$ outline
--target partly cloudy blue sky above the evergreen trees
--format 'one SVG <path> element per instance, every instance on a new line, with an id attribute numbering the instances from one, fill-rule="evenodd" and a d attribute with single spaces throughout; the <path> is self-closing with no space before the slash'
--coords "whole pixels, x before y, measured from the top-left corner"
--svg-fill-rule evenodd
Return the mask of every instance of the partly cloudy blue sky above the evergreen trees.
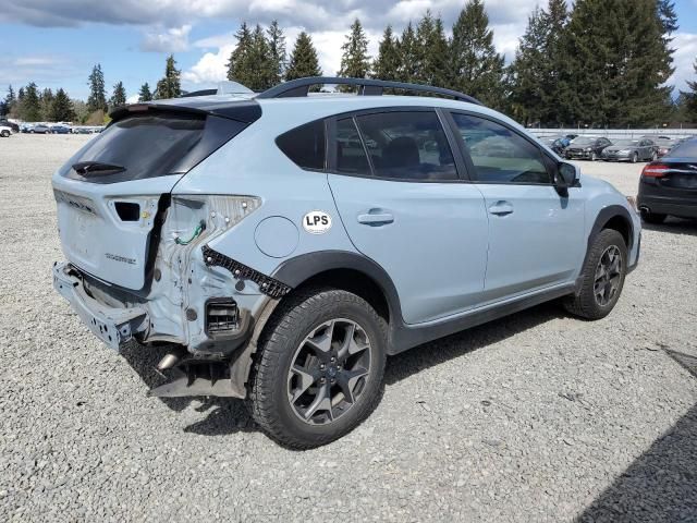
<path id="1" fill-rule="evenodd" d="M 697 59 L 697 0 L 674 0 L 680 29 L 672 42 L 675 74 L 669 83 L 685 88 Z M 95 63 L 105 72 L 108 95 L 124 83 L 130 101 L 144 82 L 154 88 L 172 52 L 187 90 L 224 80 L 240 23 L 268 25 L 278 20 L 289 51 L 307 31 L 326 75 L 334 75 L 348 26 L 358 17 L 377 54 L 382 31 L 401 32 L 427 9 L 452 26 L 465 0 L 0 0 L 0 96 L 36 82 L 40 88 L 63 87 L 85 99 Z M 485 0 L 494 45 L 510 61 L 527 17 L 546 0 Z"/>

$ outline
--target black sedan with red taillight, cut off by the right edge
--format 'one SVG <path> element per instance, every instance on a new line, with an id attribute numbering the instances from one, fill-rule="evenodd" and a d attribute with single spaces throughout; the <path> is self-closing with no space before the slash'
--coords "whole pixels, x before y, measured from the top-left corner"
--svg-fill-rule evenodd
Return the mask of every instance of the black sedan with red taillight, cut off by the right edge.
<path id="1" fill-rule="evenodd" d="M 697 218 L 697 138 L 644 168 L 637 207 L 648 223 L 662 223 L 669 215 Z"/>

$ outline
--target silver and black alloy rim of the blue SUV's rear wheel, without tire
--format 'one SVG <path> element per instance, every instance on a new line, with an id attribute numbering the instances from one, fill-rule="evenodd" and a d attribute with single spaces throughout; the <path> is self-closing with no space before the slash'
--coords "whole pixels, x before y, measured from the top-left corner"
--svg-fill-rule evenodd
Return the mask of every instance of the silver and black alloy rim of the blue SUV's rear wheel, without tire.
<path id="1" fill-rule="evenodd" d="M 309 425 L 325 425 L 348 412 L 366 390 L 371 354 L 370 340 L 356 321 L 337 318 L 313 328 L 288 373 L 295 415 Z"/>

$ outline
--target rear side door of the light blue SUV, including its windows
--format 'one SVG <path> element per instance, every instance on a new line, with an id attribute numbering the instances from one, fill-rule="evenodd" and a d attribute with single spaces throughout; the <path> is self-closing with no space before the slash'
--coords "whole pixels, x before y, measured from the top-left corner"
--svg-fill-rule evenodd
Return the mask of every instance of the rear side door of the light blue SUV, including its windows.
<path id="1" fill-rule="evenodd" d="M 329 184 L 341 220 L 355 247 L 392 278 L 404 320 L 477 305 L 487 259 L 484 198 L 458 178 L 437 112 L 358 113 L 330 130 Z"/>

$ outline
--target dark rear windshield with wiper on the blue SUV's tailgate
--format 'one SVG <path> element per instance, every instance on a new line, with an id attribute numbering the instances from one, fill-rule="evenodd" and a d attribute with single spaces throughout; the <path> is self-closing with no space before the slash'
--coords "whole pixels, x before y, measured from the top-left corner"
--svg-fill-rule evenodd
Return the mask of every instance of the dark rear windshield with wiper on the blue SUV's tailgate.
<path id="1" fill-rule="evenodd" d="M 89 142 L 62 174 L 94 183 L 182 174 L 246 125 L 204 113 L 135 113 L 113 122 Z"/>

